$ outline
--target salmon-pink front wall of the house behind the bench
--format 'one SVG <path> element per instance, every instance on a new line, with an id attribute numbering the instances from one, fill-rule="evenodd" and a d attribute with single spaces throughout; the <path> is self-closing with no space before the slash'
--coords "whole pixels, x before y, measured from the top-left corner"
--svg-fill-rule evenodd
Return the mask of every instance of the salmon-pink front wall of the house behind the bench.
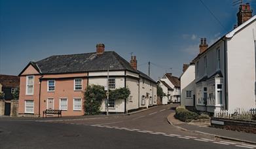
<path id="1" fill-rule="evenodd" d="M 54 99 L 54 109 L 60 109 L 60 98 L 67 98 L 67 110 L 62 112 L 62 116 L 79 116 L 84 114 L 84 109 L 82 106 L 81 111 L 73 110 L 73 98 L 81 97 L 82 103 L 83 91 L 87 86 L 87 79 L 85 78 L 87 73 L 75 73 L 75 74 L 45 74 L 41 82 L 41 101 L 40 101 L 40 112 L 39 112 L 39 90 L 40 82 L 39 78 L 42 76 L 35 73 L 33 67 L 27 67 L 26 71 L 20 76 L 20 99 L 18 113 L 24 114 L 25 112 L 25 100 L 34 101 L 34 115 L 43 114 L 43 110 L 47 108 L 47 99 Z M 30 72 L 30 73 L 29 73 Z M 34 75 L 34 88 L 33 95 L 26 95 L 26 76 L 30 74 Z M 61 78 L 60 78 L 61 77 Z M 82 91 L 74 91 L 74 78 L 82 78 Z M 47 91 L 47 80 L 55 80 L 55 91 Z"/>

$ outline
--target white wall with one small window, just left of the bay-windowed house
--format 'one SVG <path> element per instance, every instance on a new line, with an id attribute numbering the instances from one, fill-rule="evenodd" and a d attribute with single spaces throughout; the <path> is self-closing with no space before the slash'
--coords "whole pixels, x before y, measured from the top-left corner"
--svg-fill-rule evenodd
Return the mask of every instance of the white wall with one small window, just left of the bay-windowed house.
<path id="1" fill-rule="evenodd" d="M 181 105 L 193 106 L 193 95 L 195 91 L 195 69 L 194 65 L 189 65 L 187 70 L 181 76 Z M 191 98 L 187 98 L 187 91 L 191 91 Z"/>

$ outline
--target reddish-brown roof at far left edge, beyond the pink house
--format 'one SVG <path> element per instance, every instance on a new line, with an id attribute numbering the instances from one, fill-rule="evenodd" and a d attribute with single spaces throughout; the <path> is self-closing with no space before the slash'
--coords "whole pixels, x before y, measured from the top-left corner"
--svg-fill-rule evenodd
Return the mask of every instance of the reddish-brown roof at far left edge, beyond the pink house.
<path id="1" fill-rule="evenodd" d="M 5 88 L 17 88 L 20 86 L 20 77 L 0 74 L 0 84 Z"/>

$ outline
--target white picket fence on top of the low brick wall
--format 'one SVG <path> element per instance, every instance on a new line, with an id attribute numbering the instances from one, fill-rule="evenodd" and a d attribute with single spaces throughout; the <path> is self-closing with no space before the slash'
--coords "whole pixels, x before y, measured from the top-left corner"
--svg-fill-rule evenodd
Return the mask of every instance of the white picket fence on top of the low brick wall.
<path id="1" fill-rule="evenodd" d="M 215 118 L 229 118 L 236 120 L 252 120 L 256 114 L 256 108 L 244 109 L 237 108 L 236 110 L 215 110 Z"/>

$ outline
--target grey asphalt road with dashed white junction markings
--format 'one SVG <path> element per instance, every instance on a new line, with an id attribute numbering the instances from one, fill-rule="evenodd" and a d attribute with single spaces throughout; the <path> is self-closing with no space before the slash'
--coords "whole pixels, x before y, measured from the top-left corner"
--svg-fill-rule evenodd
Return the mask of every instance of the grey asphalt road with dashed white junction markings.
<path id="1" fill-rule="evenodd" d="M 170 108 L 63 120 L 0 118 L 0 148 L 254 148 L 181 131 L 166 120 Z"/>

